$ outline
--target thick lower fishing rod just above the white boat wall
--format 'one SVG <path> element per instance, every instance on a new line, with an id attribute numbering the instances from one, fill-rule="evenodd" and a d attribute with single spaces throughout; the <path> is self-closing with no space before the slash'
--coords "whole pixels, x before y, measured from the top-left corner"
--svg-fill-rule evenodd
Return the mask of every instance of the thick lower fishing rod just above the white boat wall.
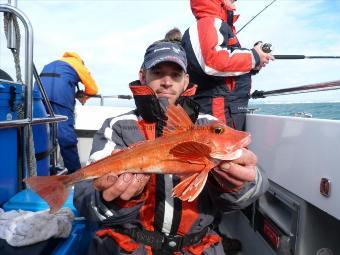
<path id="1" fill-rule="evenodd" d="M 336 90 L 336 89 L 340 89 L 340 80 L 316 83 L 316 84 L 311 84 L 311 85 L 304 85 L 304 86 L 299 86 L 299 87 L 277 89 L 277 90 L 268 90 L 268 91 L 255 90 L 250 95 L 250 98 L 257 99 L 257 98 L 266 98 L 268 96 L 281 96 L 281 95 L 319 92 L 319 91 Z"/>

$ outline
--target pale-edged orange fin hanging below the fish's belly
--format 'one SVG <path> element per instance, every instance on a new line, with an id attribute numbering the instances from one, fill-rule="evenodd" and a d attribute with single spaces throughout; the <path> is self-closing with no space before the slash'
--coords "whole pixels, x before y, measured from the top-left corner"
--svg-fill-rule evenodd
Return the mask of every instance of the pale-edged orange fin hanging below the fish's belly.
<path id="1" fill-rule="evenodd" d="M 172 195 L 183 201 L 191 202 L 201 193 L 208 179 L 209 170 L 195 173 L 174 187 Z"/>

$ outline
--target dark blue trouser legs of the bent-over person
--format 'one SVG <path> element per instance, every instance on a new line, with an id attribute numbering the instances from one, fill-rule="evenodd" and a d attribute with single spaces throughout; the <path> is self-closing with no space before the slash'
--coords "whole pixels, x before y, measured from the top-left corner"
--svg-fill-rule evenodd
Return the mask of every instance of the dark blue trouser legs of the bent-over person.
<path id="1" fill-rule="evenodd" d="M 67 121 L 58 123 L 58 143 L 64 166 L 69 170 L 69 173 L 73 173 L 81 167 L 77 148 L 78 140 L 74 130 L 74 112 L 53 102 L 51 105 L 55 114 L 68 117 Z"/>

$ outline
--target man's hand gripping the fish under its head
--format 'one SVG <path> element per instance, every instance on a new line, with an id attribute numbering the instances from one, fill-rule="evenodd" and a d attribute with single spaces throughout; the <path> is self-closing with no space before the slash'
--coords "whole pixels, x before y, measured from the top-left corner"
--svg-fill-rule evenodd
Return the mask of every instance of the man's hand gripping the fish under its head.
<path id="1" fill-rule="evenodd" d="M 242 149 L 240 158 L 233 161 L 222 161 L 212 174 L 224 190 L 240 189 L 246 182 L 256 178 L 256 155 L 247 149 Z"/>

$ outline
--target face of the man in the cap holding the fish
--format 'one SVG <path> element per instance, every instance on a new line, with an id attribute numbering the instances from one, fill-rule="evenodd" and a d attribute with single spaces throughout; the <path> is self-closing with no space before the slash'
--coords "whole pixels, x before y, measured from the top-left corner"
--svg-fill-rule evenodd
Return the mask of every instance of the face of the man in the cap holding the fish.
<path id="1" fill-rule="evenodd" d="M 169 104 L 174 104 L 189 84 L 189 75 L 172 62 L 162 62 L 151 69 L 141 70 L 139 80 L 149 86 L 156 96 L 168 98 Z"/>

